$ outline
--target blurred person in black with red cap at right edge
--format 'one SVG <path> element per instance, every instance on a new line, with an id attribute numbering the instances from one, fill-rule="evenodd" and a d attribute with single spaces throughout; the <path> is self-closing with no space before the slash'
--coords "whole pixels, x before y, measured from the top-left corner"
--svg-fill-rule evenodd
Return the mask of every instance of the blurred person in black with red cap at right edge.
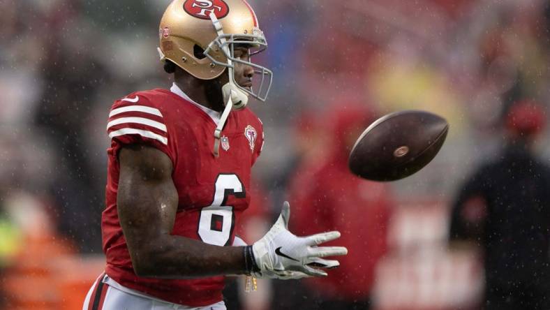
<path id="1" fill-rule="evenodd" d="M 550 167 L 532 152 L 546 115 L 533 101 L 505 114 L 502 154 L 461 186 L 450 237 L 480 246 L 485 309 L 550 309 Z"/>

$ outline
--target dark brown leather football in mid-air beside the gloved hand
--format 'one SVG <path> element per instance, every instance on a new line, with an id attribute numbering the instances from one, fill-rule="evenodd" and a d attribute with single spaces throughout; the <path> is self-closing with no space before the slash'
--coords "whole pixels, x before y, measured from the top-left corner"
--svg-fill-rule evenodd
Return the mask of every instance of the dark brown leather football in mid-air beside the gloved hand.
<path id="1" fill-rule="evenodd" d="M 449 123 L 429 112 L 408 110 L 377 119 L 353 146 L 351 172 L 373 181 L 403 179 L 424 168 L 445 142 Z"/>

